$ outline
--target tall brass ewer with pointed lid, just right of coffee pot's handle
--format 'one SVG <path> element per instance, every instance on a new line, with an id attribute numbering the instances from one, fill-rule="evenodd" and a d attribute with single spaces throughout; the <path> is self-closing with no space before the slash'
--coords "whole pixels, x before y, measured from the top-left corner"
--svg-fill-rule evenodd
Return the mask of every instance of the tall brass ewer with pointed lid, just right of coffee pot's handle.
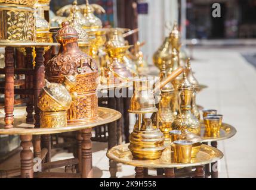
<path id="1" fill-rule="evenodd" d="M 193 95 L 193 85 L 187 80 L 186 72 L 183 73 L 183 79 L 178 85 L 178 105 L 179 112 L 177 117 L 172 123 L 172 129 L 184 131 L 187 129 L 189 132 L 200 134 L 200 122 L 198 118 L 191 112 L 191 99 Z"/>

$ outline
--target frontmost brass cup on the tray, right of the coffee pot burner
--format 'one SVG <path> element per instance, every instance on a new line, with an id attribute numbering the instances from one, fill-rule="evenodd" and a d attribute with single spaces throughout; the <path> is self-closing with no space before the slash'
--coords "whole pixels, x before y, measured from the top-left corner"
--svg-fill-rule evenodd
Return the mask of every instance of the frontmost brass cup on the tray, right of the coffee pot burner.
<path id="1" fill-rule="evenodd" d="M 174 160 L 178 163 L 190 163 L 192 141 L 174 141 Z"/>

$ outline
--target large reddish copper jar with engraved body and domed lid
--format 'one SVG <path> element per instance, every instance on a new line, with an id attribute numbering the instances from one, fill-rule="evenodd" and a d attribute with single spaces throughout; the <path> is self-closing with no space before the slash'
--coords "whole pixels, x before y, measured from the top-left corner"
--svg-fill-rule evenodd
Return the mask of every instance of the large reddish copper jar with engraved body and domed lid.
<path id="1" fill-rule="evenodd" d="M 69 22 L 63 22 L 62 26 L 56 35 L 60 50 L 45 65 L 45 77 L 51 82 L 62 83 L 65 75 L 77 74 L 76 84 L 70 93 L 76 91 L 78 96 L 67 110 L 67 122 L 81 124 L 95 121 L 98 119 L 97 64 L 79 49 L 78 33 Z"/>

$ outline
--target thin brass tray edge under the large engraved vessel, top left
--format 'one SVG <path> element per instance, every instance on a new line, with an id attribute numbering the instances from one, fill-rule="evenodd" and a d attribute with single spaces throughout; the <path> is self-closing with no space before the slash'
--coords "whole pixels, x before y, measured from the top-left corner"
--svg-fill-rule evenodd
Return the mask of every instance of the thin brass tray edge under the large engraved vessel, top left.
<path id="1" fill-rule="evenodd" d="M 43 43 L 43 42 L 0 42 L 0 47 L 48 47 L 59 46 L 59 43 Z"/>

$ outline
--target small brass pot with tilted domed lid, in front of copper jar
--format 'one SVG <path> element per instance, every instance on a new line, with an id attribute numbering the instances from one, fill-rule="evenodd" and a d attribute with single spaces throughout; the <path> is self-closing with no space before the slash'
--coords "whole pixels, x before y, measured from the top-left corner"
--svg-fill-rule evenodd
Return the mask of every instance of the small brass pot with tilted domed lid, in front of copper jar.
<path id="1" fill-rule="evenodd" d="M 76 93 L 69 90 L 75 85 L 75 77 L 64 77 L 62 84 L 50 83 L 45 80 L 45 87 L 39 96 L 41 128 L 59 128 L 67 126 L 67 109 L 72 105 Z"/>

